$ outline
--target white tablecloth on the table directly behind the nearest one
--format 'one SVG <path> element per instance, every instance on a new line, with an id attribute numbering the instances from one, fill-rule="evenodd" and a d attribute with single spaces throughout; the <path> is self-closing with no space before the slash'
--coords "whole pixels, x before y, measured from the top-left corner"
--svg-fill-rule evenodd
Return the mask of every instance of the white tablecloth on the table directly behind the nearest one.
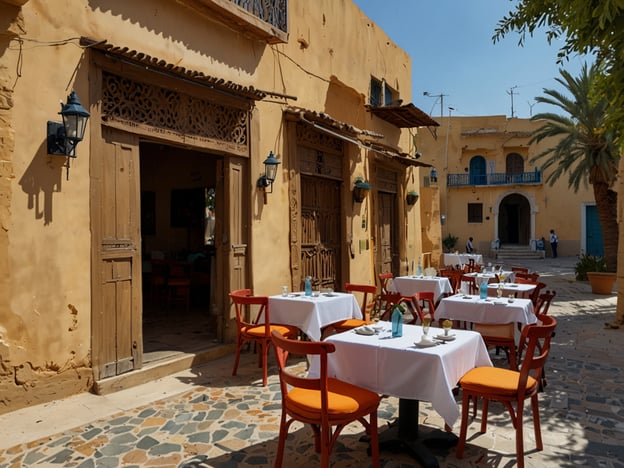
<path id="1" fill-rule="evenodd" d="M 466 298 L 466 299 L 465 299 Z M 445 297 L 438 304 L 436 319 L 464 320 L 473 323 L 536 323 L 533 303 L 529 299 L 479 299 L 479 296 Z"/>

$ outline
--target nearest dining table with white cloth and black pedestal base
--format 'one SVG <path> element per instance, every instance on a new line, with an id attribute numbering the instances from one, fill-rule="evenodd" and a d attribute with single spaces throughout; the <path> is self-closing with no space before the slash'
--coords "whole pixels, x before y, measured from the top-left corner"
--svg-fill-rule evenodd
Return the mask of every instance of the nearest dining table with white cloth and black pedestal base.
<path id="1" fill-rule="evenodd" d="M 443 330 L 431 327 L 432 341 L 422 346 L 420 325 L 404 325 L 401 337 L 392 337 L 390 322 L 380 321 L 375 334 L 364 335 L 358 329 L 338 333 L 325 341 L 335 352 L 328 355 L 331 377 L 367 388 L 376 393 L 399 398 L 399 416 L 395 424 L 379 436 L 380 449 L 410 452 L 422 466 L 437 467 L 429 445 L 449 448 L 457 443 L 452 432 L 435 429 L 419 434 L 419 402 L 431 402 L 433 409 L 452 427 L 459 417 L 453 389 L 469 370 L 492 366 L 481 336 L 469 330 L 451 330 L 446 341 L 435 338 Z M 309 372 L 318 374 L 318 361 Z"/>

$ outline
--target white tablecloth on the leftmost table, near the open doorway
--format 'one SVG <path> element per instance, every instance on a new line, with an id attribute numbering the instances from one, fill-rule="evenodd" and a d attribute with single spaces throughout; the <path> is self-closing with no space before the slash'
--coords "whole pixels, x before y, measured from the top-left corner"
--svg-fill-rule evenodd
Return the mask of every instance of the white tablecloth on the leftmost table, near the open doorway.
<path id="1" fill-rule="evenodd" d="M 295 294 L 297 294 L 295 296 Z M 350 318 L 362 318 L 362 311 L 353 294 L 333 293 L 318 297 L 294 293 L 288 296 L 270 296 L 271 323 L 294 325 L 313 341 L 321 339 L 321 329 Z"/>

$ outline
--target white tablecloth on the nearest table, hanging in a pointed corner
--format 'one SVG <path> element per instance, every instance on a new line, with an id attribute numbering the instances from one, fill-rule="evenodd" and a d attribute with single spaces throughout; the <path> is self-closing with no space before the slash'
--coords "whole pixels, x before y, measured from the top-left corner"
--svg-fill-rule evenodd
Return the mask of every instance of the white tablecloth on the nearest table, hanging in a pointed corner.
<path id="1" fill-rule="evenodd" d="M 422 337 L 421 326 L 404 325 L 403 336 L 392 338 L 390 322 L 380 323 L 385 331 L 373 336 L 351 330 L 327 338 L 336 346 L 328 355 L 329 375 L 384 395 L 430 401 L 452 426 L 459 417 L 453 388 L 470 369 L 492 365 L 481 335 L 453 330 L 454 341 L 418 348 L 414 342 Z M 431 336 L 442 333 L 441 328 L 429 330 Z M 318 361 L 310 368 L 314 372 Z"/>

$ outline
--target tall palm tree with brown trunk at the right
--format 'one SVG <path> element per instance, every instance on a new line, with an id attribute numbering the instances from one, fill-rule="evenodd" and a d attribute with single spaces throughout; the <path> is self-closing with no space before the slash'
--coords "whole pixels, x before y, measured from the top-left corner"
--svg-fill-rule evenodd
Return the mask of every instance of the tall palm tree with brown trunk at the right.
<path id="1" fill-rule="evenodd" d="M 573 77 L 559 70 L 556 81 L 570 93 L 545 89 L 545 96 L 537 102 L 558 107 L 566 115 L 540 113 L 532 120 L 544 124 L 533 132 L 531 143 L 545 138 L 558 138 L 556 146 L 538 154 L 532 161 L 543 160 L 542 170 L 552 169 L 546 178 L 551 186 L 564 174 L 568 175 L 568 187 L 576 193 L 581 183 L 592 185 L 596 211 L 602 228 L 604 257 L 607 271 L 617 270 L 618 224 L 617 193 L 612 190 L 617 178 L 620 152 L 615 144 L 617 131 L 605 125 L 608 102 L 597 92 L 596 81 L 600 70 L 585 64 L 580 76 Z"/>

